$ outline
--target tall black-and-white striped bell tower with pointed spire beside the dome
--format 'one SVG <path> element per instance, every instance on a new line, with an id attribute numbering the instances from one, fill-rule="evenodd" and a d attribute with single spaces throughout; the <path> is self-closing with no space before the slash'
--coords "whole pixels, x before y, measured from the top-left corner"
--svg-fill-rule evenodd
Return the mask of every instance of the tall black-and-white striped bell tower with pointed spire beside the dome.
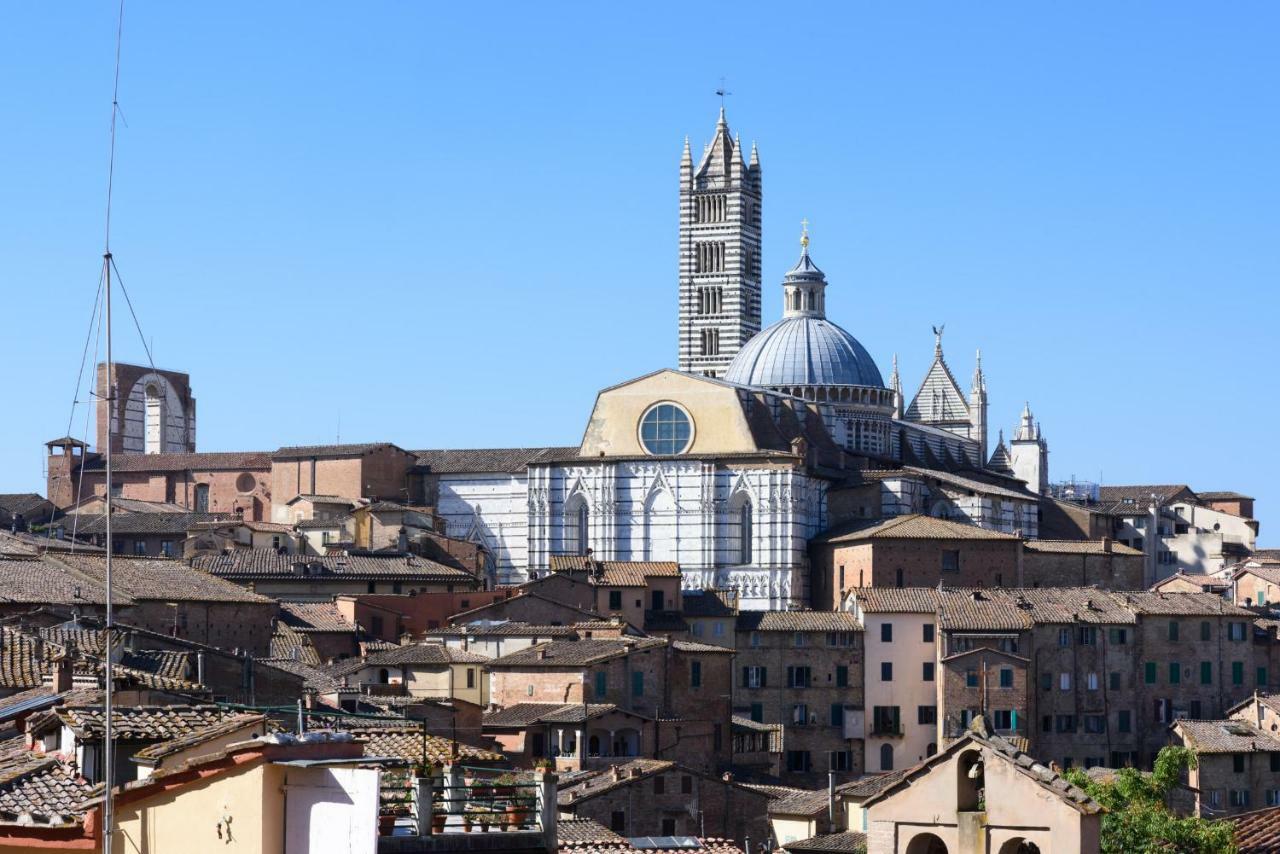
<path id="1" fill-rule="evenodd" d="M 721 108 L 698 166 L 687 138 L 680 160 L 680 370 L 723 376 L 759 330 L 760 157 L 744 163 Z"/>

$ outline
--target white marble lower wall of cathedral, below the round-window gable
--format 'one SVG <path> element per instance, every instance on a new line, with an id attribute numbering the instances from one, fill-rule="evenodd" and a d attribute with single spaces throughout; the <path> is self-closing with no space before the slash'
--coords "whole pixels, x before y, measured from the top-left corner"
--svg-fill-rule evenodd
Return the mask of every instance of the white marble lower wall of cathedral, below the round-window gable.
<path id="1" fill-rule="evenodd" d="M 805 595 L 808 542 L 826 528 L 827 483 L 791 469 L 727 469 L 700 460 L 531 466 L 527 476 L 445 475 L 438 512 L 451 536 L 483 542 L 500 581 L 576 549 L 579 507 L 596 558 L 678 561 L 689 588 L 732 586 L 744 608 Z M 751 506 L 750 561 L 741 557 Z"/>

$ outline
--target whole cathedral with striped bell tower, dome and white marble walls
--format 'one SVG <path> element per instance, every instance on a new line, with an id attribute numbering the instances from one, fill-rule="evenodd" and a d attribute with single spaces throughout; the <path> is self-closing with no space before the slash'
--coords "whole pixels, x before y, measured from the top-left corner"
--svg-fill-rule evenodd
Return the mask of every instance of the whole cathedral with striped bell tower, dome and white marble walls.
<path id="1" fill-rule="evenodd" d="M 966 394 L 936 328 L 906 401 L 896 357 L 886 384 L 827 318 L 808 233 L 773 296 L 782 316 L 762 329 L 762 201 L 759 152 L 744 156 L 722 109 L 700 160 L 686 140 L 680 163 L 678 370 L 602 391 L 579 446 L 529 449 L 503 471 L 419 452 L 425 499 L 451 534 L 492 549 L 502 580 L 564 553 L 678 561 L 686 586 L 794 607 L 808 543 L 847 521 L 832 511 L 846 493 L 863 497 L 863 517 L 924 512 L 1036 536 L 1047 444 L 1028 410 L 988 455 L 980 355 Z"/>

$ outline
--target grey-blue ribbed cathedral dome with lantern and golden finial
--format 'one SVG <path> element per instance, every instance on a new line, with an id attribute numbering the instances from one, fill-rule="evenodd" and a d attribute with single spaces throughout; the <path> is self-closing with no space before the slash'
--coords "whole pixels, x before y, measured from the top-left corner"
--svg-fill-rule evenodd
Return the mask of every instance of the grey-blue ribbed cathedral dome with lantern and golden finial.
<path id="1" fill-rule="evenodd" d="M 884 380 L 867 348 L 827 320 L 827 277 L 809 257 L 808 233 L 800 245 L 800 261 L 782 280 L 782 320 L 746 342 L 730 362 L 724 379 L 765 388 L 883 388 Z"/>

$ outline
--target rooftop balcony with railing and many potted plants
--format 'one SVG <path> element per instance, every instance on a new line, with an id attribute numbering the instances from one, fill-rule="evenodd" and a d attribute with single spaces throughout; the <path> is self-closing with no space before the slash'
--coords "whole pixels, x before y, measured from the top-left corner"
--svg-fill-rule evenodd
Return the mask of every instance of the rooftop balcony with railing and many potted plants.
<path id="1" fill-rule="evenodd" d="M 379 854 L 557 849 L 556 775 L 444 766 L 380 819 Z M 424 808 L 428 805 L 426 808 Z"/>

